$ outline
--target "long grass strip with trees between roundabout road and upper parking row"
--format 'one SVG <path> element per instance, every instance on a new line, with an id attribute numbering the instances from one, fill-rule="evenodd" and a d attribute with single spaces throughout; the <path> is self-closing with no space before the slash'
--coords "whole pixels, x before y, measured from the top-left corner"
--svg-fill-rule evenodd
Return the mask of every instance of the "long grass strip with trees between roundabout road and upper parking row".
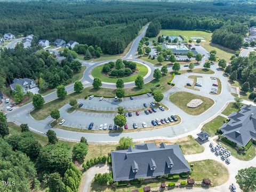
<path id="1" fill-rule="evenodd" d="M 172 73 L 167 73 L 159 80 L 153 79 L 150 82 L 146 83 L 145 85 L 143 85 L 142 89 L 139 89 L 137 87 L 127 88 L 125 89 L 125 95 L 129 96 L 151 92 L 152 87 L 155 87 L 156 90 L 161 90 L 162 92 L 165 92 L 173 87 L 172 85 L 167 84 L 168 81 L 172 80 L 172 77 Z M 35 109 L 31 111 L 30 114 L 37 120 L 45 119 L 50 115 L 52 109 L 59 109 L 67 104 L 70 99 L 81 99 L 84 98 L 85 95 L 89 94 L 103 97 L 115 97 L 115 89 L 100 88 L 98 90 L 95 90 L 93 89 L 93 87 L 86 87 L 81 93 L 71 93 L 68 94 L 65 99 L 55 99 L 53 101 L 47 102 L 44 104 L 43 108 Z"/>

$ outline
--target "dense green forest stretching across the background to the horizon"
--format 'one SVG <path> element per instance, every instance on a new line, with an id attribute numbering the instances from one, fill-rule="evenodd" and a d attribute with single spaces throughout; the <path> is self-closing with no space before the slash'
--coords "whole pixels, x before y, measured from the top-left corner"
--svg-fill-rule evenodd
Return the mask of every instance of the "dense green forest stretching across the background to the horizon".
<path id="1" fill-rule="evenodd" d="M 255 6 L 243 4 L 38 1 L 0 2 L 0 6 L 5 7 L 0 10 L 0 34 L 34 34 L 36 39 L 51 42 L 56 38 L 74 40 L 98 45 L 109 54 L 123 53 L 141 27 L 151 20 L 154 25 L 154 19 L 163 29 L 209 31 L 222 27 L 227 20 L 256 22 Z"/>

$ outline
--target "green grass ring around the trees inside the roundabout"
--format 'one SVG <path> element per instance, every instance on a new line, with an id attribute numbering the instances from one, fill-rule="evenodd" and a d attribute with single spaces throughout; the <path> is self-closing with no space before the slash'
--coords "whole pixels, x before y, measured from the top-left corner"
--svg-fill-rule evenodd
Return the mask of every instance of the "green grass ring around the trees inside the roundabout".
<path id="1" fill-rule="evenodd" d="M 132 82 L 135 81 L 135 79 L 140 75 L 140 76 L 145 76 L 148 73 L 148 68 L 145 65 L 142 65 L 138 62 L 136 62 L 137 64 L 137 68 L 139 69 L 138 73 L 131 75 L 129 77 L 122 77 L 122 79 L 124 80 L 124 82 Z M 108 82 L 108 83 L 116 83 L 117 78 L 112 78 L 112 77 L 108 77 L 105 74 L 102 74 L 102 68 L 104 65 L 100 65 L 98 67 L 95 67 L 92 70 L 92 76 L 94 78 L 99 78 L 102 82 Z"/>

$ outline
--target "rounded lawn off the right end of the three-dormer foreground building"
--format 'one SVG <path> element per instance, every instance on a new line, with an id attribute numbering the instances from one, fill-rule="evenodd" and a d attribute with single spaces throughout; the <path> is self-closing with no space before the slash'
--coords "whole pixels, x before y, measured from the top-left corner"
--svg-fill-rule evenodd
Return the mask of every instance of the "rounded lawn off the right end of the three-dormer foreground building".
<path id="1" fill-rule="evenodd" d="M 227 168 L 217 161 L 207 159 L 189 163 L 194 164 L 190 178 L 195 179 L 195 181 L 202 181 L 204 178 L 209 178 L 212 186 L 219 186 L 228 180 Z"/>

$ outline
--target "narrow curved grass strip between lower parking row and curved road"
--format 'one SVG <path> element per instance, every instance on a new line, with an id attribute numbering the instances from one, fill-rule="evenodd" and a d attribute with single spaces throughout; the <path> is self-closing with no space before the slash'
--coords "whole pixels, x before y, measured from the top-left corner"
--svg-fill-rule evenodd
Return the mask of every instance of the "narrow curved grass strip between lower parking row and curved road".
<path id="1" fill-rule="evenodd" d="M 141 132 L 141 131 L 151 131 L 151 130 L 156 130 L 156 129 L 161 129 L 164 127 L 170 127 L 174 125 L 178 125 L 181 123 L 181 118 L 178 115 L 175 115 L 175 117 L 178 118 L 177 122 L 172 122 L 172 123 L 166 123 L 158 126 L 150 126 L 146 128 L 138 128 L 138 129 L 123 129 L 122 127 L 119 127 L 118 130 L 88 130 L 86 129 L 81 129 L 81 128 L 76 128 L 76 127 L 70 127 L 70 126 L 65 126 L 65 125 L 56 125 L 54 128 L 57 129 L 62 129 L 66 131 L 74 131 L 74 132 L 82 132 L 82 133 L 106 133 L 106 134 L 111 134 L 111 133 L 131 133 L 131 132 Z"/>

